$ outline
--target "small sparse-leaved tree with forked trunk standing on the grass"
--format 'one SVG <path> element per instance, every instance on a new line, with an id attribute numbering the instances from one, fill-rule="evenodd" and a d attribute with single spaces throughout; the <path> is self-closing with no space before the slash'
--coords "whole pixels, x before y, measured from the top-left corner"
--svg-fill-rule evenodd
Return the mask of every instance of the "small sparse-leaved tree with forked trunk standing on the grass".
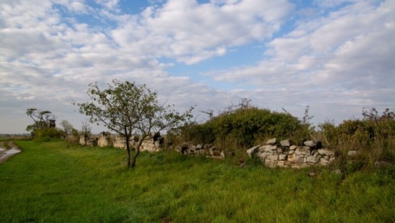
<path id="1" fill-rule="evenodd" d="M 90 116 L 90 122 L 103 124 L 124 137 L 128 167 L 136 165 L 142 142 L 153 138 L 153 133 L 178 126 L 192 117 L 192 108 L 183 114 L 171 110 L 171 106 L 158 102 L 156 92 L 134 82 L 113 80 L 105 90 L 91 83 L 87 94 L 92 101 L 75 103 L 79 112 Z M 133 133 L 141 137 L 131 162 L 130 137 Z"/>

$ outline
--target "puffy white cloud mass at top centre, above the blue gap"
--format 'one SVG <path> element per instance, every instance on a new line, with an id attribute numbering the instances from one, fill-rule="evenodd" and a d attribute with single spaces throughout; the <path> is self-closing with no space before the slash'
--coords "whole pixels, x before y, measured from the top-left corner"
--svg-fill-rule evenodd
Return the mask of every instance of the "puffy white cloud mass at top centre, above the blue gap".
<path id="1" fill-rule="evenodd" d="M 126 51 L 195 64 L 223 55 L 228 47 L 271 37 L 293 10 L 284 0 L 217 3 L 169 0 L 146 8 L 112 36 Z"/>

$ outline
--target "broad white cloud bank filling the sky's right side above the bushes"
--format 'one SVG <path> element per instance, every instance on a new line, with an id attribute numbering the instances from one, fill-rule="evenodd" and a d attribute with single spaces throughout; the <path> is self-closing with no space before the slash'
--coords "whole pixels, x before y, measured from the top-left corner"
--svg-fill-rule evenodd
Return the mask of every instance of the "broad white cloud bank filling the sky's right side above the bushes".
<path id="1" fill-rule="evenodd" d="M 217 81 L 247 82 L 252 87 L 245 94 L 263 106 L 290 105 L 290 111 L 297 112 L 310 104 L 319 110 L 319 121 L 349 118 L 362 107 L 393 108 L 394 11 L 391 0 L 349 4 L 297 23 L 288 35 L 267 44 L 265 54 L 270 57 L 256 66 L 207 75 Z M 336 105 L 344 109 L 334 111 Z"/>

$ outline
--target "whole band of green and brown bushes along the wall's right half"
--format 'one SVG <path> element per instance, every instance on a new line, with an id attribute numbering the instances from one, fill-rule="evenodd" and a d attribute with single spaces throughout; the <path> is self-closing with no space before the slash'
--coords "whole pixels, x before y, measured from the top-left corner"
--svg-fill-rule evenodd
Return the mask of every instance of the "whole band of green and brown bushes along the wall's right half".
<path id="1" fill-rule="evenodd" d="M 386 109 L 381 114 L 372 108 L 362 111 L 362 118 L 344 120 L 336 125 L 326 121 L 317 128 L 309 123 L 309 107 L 302 118 L 289 112 L 276 112 L 253 106 L 238 106 L 211 116 L 204 123 L 191 123 L 169 134 L 170 140 L 180 144 L 214 144 L 217 149 L 233 151 L 234 161 L 247 159 L 246 149 L 262 145 L 266 140 L 299 139 L 317 140 L 325 148 L 335 149 L 340 154 L 334 169 L 355 171 L 373 168 L 377 160 L 395 163 L 395 114 Z M 356 150 L 357 157 L 347 156 Z"/>

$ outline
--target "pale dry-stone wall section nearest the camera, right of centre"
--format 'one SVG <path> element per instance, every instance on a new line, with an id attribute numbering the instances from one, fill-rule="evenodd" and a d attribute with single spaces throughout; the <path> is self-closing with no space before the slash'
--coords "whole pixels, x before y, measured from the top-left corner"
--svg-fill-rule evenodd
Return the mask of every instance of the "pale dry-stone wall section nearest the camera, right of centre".
<path id="1" fill-rule="evenodd" d="M 265 145 L 247 150 L 250 157 L 257 155 L 269 167 L 303 168 L 310 165 L 328 165 L 337 153 L 333 149 L 322 148 L 319 141 L 299 141 L 293 145 L 290 140 L 277 142 L 276 138 Z"/>

